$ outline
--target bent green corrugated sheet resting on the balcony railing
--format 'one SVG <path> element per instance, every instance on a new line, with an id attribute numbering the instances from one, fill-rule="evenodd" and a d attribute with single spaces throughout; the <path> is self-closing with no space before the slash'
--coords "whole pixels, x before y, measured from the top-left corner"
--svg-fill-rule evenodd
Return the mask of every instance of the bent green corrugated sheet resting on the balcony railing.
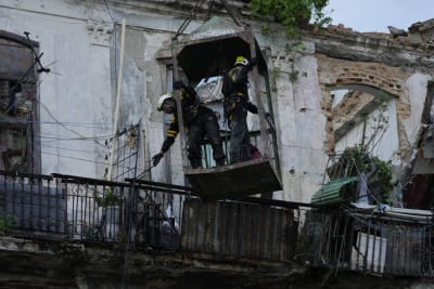
<path id="1" fill-rule="evenodd" d="M 344 196 L 341 194 L 342 188 L 347 184 L 357 182 L 357 176 L 331 180 L 329 183 L 323 184 L 321 188 L 314 194 L 310 202 L 316 205 L 331 205 L 342 202 L 345 200 Z"/>

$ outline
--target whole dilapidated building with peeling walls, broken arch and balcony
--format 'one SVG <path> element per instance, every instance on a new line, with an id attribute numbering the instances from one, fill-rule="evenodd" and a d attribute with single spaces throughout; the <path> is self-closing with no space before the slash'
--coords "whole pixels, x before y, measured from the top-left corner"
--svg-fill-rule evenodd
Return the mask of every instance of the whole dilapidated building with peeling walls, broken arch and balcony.
<path id="1" fill-rule="evenodd" d="M 294 40 L 235 0 L 3 0 L 0 288 L 425 284 L 434 21 L 390 30 Z M 260 160 L 214 168 L 204 142 L 191 171 L 181 130 L 153 167 L 178 79 L 219 113 L 227 149 L 219 81 L 238 49 L 258 60 Z"/>

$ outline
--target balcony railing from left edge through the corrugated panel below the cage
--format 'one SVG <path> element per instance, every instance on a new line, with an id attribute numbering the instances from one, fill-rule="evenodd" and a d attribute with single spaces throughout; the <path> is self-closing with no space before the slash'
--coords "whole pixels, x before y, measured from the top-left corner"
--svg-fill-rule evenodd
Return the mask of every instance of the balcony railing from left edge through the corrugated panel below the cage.
<path id="1" fill-rule="evenodd" d="M 12 220 L 11 235 L 291 260 L 298 227 L 292 207 L 255 199 L 203 202 L 171 184 L 0 171 L 0 219 Z"/>

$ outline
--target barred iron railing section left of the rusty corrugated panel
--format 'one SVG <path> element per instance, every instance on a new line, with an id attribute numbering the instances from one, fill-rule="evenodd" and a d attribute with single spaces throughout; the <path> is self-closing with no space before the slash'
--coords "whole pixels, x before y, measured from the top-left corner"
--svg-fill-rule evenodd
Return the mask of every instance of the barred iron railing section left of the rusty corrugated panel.
<path id="1" fill-rule="evenodd" d="M 129 181 L 0 171 L 0 218 L 20 235 L 178 248 L 188 188 Z"/>

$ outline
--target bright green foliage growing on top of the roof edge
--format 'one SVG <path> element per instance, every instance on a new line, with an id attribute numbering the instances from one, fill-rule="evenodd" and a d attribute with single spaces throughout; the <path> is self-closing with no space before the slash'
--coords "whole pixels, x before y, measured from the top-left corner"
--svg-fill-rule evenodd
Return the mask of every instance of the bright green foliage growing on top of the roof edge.
<path id="1" fill-rule="evenodd" d="M 266 15 L 286 28 L 288 36 L 295 36 L 298 28 L 306 28 L 309 23 L 323 27 L 331 23 L 323 10 L 329 0 L 252 0 L 253 15 Z"/>

